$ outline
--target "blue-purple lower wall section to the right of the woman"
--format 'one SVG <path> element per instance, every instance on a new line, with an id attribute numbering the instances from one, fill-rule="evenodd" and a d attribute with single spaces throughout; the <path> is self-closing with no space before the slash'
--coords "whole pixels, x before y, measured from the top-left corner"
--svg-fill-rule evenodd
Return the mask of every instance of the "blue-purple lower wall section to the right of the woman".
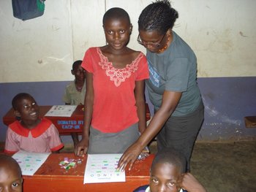
<path id="1" fill-rule="evenodd" d="M 197 139 L 255 139 L 256 128 L 246 128 L 244 117 L 256 116 L 256 77 L 199 78 L 205 120 Z"/>

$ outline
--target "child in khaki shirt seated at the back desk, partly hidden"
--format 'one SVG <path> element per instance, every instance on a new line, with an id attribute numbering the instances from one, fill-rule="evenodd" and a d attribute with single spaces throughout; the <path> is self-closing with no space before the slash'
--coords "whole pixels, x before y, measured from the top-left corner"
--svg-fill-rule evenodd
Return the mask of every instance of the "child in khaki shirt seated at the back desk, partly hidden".
<path id="1" fill-rule="evenodd" d="M 84 104 L 86 96 L 86 71 L 81 67 L 82 61 L 75 61 L 72 65 L 71 73 L 75 75 L 75 80 L 67 85 L 63 96 L 65 104 Z M 78 143 L 78 134 L 71 133 L 74 146 Z"/>

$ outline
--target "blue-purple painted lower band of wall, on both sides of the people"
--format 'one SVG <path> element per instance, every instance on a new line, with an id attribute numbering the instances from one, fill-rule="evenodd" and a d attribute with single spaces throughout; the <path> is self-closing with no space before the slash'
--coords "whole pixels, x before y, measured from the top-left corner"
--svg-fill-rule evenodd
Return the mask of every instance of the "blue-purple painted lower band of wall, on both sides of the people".
<path id="1" fill-rule="evenodd" d="M 65 86 L 61 82 L 0 83 L 0 141 L 5 139 L 7 126 L 2 123 L 10 110 L 13 96 L 27 92 L 39 105 L 64 104 L 61 101 Z M 256 77 L 198 78 L 198 85 L 205 104 L 205 121 L 197 140 L 255 139 L 256 128 L 246 128 L 245 116 L 256 115 Z M 147 93 L 146 93 L 147 94 Z M 146 95 L 148 101 L 148 96 Z M 149 103 L 151 114 L 153 107 Z"/>

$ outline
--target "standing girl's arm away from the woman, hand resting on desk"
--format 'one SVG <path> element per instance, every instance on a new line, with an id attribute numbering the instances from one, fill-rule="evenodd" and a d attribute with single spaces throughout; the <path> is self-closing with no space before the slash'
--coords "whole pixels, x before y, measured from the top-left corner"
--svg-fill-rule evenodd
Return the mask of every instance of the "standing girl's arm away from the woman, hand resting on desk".
<path id="1" fill-rule="evenodd" d="M 78 145 L 75 146 L 75 155 L 81 156 L 87 153 L 89 147 L 89 129 L 94 104 L 93 74 L 86 72 L 86 97 L 84 100 L 83 135 Z"/>

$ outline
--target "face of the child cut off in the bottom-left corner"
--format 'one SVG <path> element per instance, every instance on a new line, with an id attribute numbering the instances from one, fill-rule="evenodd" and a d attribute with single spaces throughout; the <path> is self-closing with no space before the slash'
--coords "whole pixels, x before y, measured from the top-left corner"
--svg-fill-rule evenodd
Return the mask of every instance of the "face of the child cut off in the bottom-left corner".
<path id="1" fill-rule="evenodd" d="M 0 191 L 22 191 L 22 177 L 16 166 L 0 165 Z"/>

